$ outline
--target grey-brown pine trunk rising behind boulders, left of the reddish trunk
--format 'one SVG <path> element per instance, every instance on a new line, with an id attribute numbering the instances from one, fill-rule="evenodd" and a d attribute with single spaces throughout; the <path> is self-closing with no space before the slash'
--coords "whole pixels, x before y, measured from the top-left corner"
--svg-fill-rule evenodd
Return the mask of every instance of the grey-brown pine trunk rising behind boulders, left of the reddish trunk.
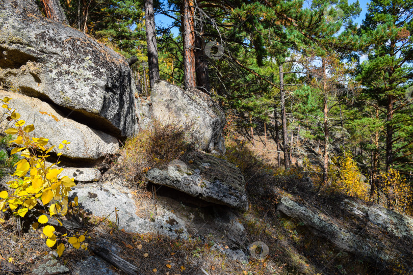
<path id="1" fill-rule="evenodd" d="M 145 0 L 145 27 L 146 45 L 148 47 L 149 85 L 152 89 L 155 82 L 159 80 L 158 45 L 153 0 Z"/>

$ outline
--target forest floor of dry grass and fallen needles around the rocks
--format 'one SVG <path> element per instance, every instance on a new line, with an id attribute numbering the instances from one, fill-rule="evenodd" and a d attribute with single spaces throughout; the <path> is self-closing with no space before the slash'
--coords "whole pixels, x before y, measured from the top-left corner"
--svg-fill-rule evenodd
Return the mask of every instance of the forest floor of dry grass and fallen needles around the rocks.
<path id="1" fill-rule="evenodd" d="M 106 240 L 121 258 L 135 265 L 142 274 L 398 274 L 394 266 L 382 269 L 335 248 L 304 227 L 299 219 L 291 219 L 278 212 L 280 197 L 277 194 L 285 193 L 334 217 L 344 228 L 363 227 L 363 224 L 347 219 L 346 213 L 341 213 L 337 207 L 346 196 L 329 190 L 319 193 L 315 190 L 316 184 L 314 188 L 306 189 L 302 184 L 302 170 L 292 168 L 286 172 L 277 167 L 273 151 L 275 145 L 267 137 L 265 146 L 255 142 L 252 147 L 245 139 L 229 142 L 226 154 L 229 161 L 239 166 L 247 182 L 250 209 L 237 215 L 245 228 L 246 244 L 264 242 L 268 246 L 264 260 L 251 257 L 247 245 L 244 247 L 248 256 L 246 260 L 229 257 L 223 252 L 227 249 L 227 239 L 221 237 L 220 231 L 194 226 L 188 228 L 193 236 L 190 238 L 128 233 L 109 219 L 81 212 L 82 223 L 93 228 L 88 233 L 87 242 Z M 154 194 L 150 186 L 135 186 L 132 193 L 139 209 L 137 214 L 142 217 L 153 208 L 168 204 L 175 212 L 199 213 L 194 219 L 195 225 L 196 219 L 198 224 L 203 224 L 201 219 L 205 220 L 204 217 L 212 212 L 209 206 L 199 207 L 161 192 Z M 371 234 L 380 234 L 379 231 L 374 232 L 373 227 L 365 226 Z M 0 238 L 0 260 L 3 260 L 0 274 L 7 274 L 2 271 L 5 261 L 13 263 L 21 274 L 30 274 L 37 261 L 49 251 L 40 230 L 23 233 L 22 225 L 14 217 L 0 225 Z M 87 263 L 92 255 L 90 250 L 67 249 L 59 261 L 69 268 L 71 274 L 83 275 L 87 273 L 80 263 Z M 123 274 L 113 266 L 108 267 L 108 272 Z"/>

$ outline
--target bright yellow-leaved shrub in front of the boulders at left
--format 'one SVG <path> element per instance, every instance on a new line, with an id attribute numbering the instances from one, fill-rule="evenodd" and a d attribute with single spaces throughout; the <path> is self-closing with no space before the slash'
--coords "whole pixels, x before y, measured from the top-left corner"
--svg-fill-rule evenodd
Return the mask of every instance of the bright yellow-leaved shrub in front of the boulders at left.
<path id="1" fill-rule="evenodd" d="M 75 186 L 73 178 L 61 177 L 59 175 L 63 168 L 53 168 L 57 167 L 55 165 L 59 163 L 61 152 L 57 154 L 59 158 L 55 163 L 50 165 L 46 162 L 48 154 L 55 146 L 47 146 L 48 139 L 44 137 L 31 137 L 29 135 L 35 129 L 34 125 L 25 125 L 25 121 L 20 119 L 20 114 L 16 112 L 16 109 L 9 107 L 11 99 L 9 97 L 0 99 L 3 101 L 2 107 L 9 115 L 8 120 L 13 121 L 15 125 L 15 127 L 7 129 L 5 133 L 16 136 L 15 140 L 10 141 L 10 143 L 17 145 L 11 150 L 11 154 L 21 151 L 20 155 L 23 158 L 14 164 L 15 172 L 12 175 L 14 179 L 8 182 L 13 191 L 0 192 L 0 210 L 10 210 L 14 215 L 24 218 L 29 211 L 36 215 L 38 212 L 31 210 L 40 207 L 45 214 L 37 214 L 37 222 L 32 224 L 33 229 L 36 230 L 39 224 L 47 224 L 51 216 L 55 216 L 62 225 L 59 217 L 66 215 L 69 207 L 78 205 L 77 198 L 73 202 L 69 202 L 68 198 L 71 187 Z M 58 148 L 65 150 L 69 144 L 69 142 L 63 141 Z M 85 240 L 84 235 L 76 233 L 69 234 L 72 236 L 62 235 L 51 225 L 44 226 L 42 232 L 47 236 L 46 244 L 50 248 L 53 248 L 60 240 L 60 244 L 57 245 L 59 256 L 63 254 L 65 249 L 63 242 L 66 239 L 74 248 L 86 249 L 86 245 L 81 245 Z"/>

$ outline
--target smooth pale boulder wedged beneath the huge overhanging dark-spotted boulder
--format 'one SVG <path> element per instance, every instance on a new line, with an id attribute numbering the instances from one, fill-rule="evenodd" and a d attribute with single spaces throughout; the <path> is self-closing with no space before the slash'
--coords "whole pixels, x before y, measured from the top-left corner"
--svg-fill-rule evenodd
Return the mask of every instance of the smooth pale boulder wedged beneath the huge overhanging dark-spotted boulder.
<path id="1" fill-rule="evenodd" d="M 114 154 L 119 150 L 115 137 L 65 118 L 48 103 L 38 98 L 0 90 L 0 97 L 6 96 L 13 98 L 9 106 L 17 109 L 26 125 L 35 125 L 35 130 L 30 133 L 31 135 L 46 137 L 49 139 L 48 145 L 59 146 L 64 140 L 70 142 L 68 150 L 62 152 L 63 156 L 98 159 L 105 154 Z M 3 112 L 4 109 L 0 114 Z M 7 120 L 3 120 L 1 123 L 6 128 L 4 124 L 7 123 Z"/>

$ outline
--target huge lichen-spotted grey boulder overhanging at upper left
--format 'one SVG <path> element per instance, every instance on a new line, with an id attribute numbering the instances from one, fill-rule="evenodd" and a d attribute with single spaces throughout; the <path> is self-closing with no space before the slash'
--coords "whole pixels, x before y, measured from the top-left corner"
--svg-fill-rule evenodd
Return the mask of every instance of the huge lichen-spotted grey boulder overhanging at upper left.
<path id="1" fill-rule="evenodd" d="M 55 104 L 117 138 L 137 126 L 136 87 L 124 58 L 43 17 L 34 0 L 0 2 L 0 86 Z"/>

